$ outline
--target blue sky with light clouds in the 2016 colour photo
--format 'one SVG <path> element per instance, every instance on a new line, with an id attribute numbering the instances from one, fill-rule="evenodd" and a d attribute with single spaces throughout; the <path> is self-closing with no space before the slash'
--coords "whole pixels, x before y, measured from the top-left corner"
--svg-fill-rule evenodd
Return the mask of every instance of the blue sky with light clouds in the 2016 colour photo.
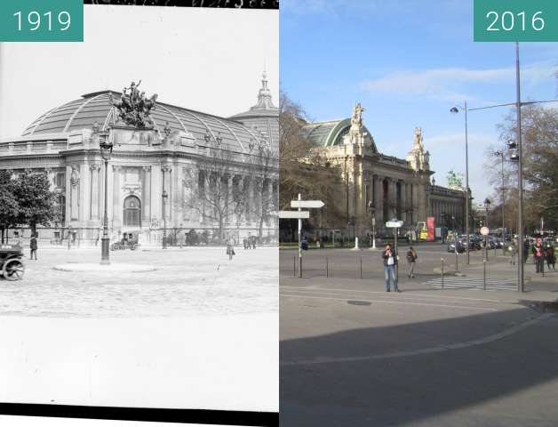
<path id="1" fill-rule="evenodd" d="M 355 101 L 379 150 L 405 157 L 422 127 L 437 183 L 465 172 L 469 108 L 515 101 L 511 43 L 473 42 L 473 1 L 282 0 L 281 85 L 315 120 L 350 117 Z M 524 100 L 556 99 L 558 43 L 520 45 Z M 490 196 L 483 158 L 507 109 L 469 113 L 469 184 Z"/>

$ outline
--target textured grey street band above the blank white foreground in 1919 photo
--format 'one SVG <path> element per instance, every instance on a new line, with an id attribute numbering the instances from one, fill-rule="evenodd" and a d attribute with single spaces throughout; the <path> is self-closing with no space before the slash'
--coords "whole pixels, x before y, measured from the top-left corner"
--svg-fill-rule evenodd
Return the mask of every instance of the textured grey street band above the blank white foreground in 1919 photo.
<path id="1" fill-rule="evenodd" d="M 111 262 L 149 264 L 155 271 L 107 274 L 54 270 L 62 263 L 99 262 L 100 247 L 47 248 L 38 261 L 26 249 L 23 280 L 0 280 L 0 315 L 145 317 L 229 315 L 278 310 L 277 248 L 159 248 L 111 252 Z"/>

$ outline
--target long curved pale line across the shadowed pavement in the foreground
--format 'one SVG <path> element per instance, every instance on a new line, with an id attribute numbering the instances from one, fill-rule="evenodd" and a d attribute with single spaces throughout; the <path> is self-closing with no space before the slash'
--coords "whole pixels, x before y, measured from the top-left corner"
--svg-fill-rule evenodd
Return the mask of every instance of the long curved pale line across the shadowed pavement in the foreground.
<path id="1" fill-rule="evenodd" d="M 521 331 L 522 329 L 525 329 L 532 325 L 536 325 L 537 323 L 552 317 L 554 317 L 554 314 L 551 313 L 541 314 L 537 318 L 531 318 L 530 320 L 527 320 L 518 325 L 508 327 L 507 329 L 504 329 L 503 331 L 498 332 L 497 334 L 491 334 L 483 338 L 478 338 L 476 340 L 471 340 L 466 342 L 455 342 L 453 344 L 441 344 L 434 347 L 427 347 L 425 349 L 419 349 L 419 350 L 395 351 L 393 353 L 371 354 L 367 356 L 348 356 L 345 358 L 332 358 L 332 357 L 321 356 L 315 359 L 282 361 L 279 362 L 279 365 L 282 367 L 296 367 L 296 366 L 322 365 L 325 363 L 361 362 L 361 361 L 371 361 L 371 360 L 381 360 L 381 359 L 404 358 L 410 356 L 419 356 L 421 354 L 431 354 L 431 353 L 439 353 L 442 351 L 465 349 L 467 347 L 474 347 L 477 345 L 488 344 L 490 342 L 501 340 L 502 338 L 506 338 L 506 336 L 515 334 Z"/>

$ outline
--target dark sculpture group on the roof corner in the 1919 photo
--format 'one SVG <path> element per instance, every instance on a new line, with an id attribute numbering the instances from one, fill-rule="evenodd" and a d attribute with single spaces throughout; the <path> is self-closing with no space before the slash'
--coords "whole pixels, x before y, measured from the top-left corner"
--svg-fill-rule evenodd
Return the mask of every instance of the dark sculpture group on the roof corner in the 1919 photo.
<path id="1" fill-rule="evenodd" d="M 118 110 L 118 119 L 126 125 L 153 129 L 155 122 L 149 114 L 152 109 L 155 109 L 157 94 L 147 98 L 146 93 L 138 89 L 140 84 L 141 80 L 137 85 L 132 82 L 130 87 L 124 87 L 118 101 L 115 101 L 110 93 L 110 103 Z"/>

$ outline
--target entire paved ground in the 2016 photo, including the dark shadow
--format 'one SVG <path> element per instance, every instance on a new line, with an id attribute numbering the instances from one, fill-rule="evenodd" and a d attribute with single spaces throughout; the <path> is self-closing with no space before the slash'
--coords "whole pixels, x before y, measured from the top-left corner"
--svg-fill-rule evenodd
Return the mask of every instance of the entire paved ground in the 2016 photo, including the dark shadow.
<path id="1" fill-rule="evenodd" d="M 441 289 L 432 282 L 441 259 L 455 271 L 455 255 L 444 249 L 418 246 L 417 277 L 407 278 L 405 262 L 400 267 L 401 294 L 387 294 L 379 252 L 308 251 L 307 270 L 295 278 L 296 253 L 281 251 L 284 425 L 558 423 L 558 318 L 531 308 L 558 298 L 558 273 L 542 278 L 528 263 L 523 294 L 512 290 L 515 282 L 493 282 L 487 291 L 471 283 Z M 491 280 L 514 279 L 498 253 L 490 254 Z M 333 277 L 321 268 L 325 256 Z M 463 276 L 446 280 L 482 279 L 479 258 L 472 254 L 466 266 L 458 255 Z"/>

